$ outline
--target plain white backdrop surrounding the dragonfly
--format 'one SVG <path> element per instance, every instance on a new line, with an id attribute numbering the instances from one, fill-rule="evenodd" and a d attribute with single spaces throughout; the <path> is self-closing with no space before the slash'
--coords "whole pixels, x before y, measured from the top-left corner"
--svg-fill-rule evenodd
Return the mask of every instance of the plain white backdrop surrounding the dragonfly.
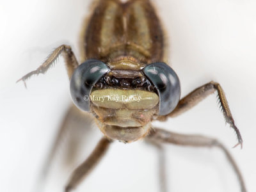
<path id="1" fill-rule="evenodd" d="M 79 57 L 78 36 L 90 13 L 87 0 L 0 1 L 0 189 L 32 191 L 42 163 L 70 104 L 63 59 L 28 89 L 15 81 L 35 70 L 60 44 Z M 244 140 L 225 125 L 216 95 L 184 115 L 156 123 L 170 131 L 218 138 L 241 168 L 248 191 L 256 191 L 256 2 L 251 0 L 161 0 L 155 2 L 170 45 L 169 59 L 180 77 L 182 96 L 218 81 Z M 84 138 L 81 163 L 101 136 L 95 127 Z M 90 139 L 88 139 L 90 138 Z M 63 147 L 64 150 L 66 147 Z M 234 172 L 220 150 L 165 145 L 168 191 L 239 191 Z M 54 163 L 45 191 L 63 191 L 72 168 L 64 156 Z M 143 141 L 114 143 L 103 161 L 76 191 L 159 191 L 157 152 Z M 35 192 L 35 191 L 33 191 Z"/>

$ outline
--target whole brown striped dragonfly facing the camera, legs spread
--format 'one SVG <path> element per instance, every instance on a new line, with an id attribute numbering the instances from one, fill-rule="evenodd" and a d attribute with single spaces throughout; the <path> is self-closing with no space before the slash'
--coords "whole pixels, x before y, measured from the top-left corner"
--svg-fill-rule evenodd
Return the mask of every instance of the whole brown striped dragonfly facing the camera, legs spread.
<path id="1" fill-rule="evenodd" d="M 24 81 L 26 86 L 29 77 L 45 74 L 57 58 L 63 56 L 74 102 L 65 119 L 82 115 L 86 120 L 87 115 L 77 113 L 78 110 L 86 111 L 102 132 L 93 152 L 72 172 L 65 192 L 75 189 L 84 180 L 111 143 L 138 140 L 147 140 L 154 145 L 170 143 L 219 148 L 231 164 L 241 191 L 246 192 L 236 162 L 220 141 L 152 126 L 154 121 L 164 122 L 179 116 L 217 92 L 225 121 L 236 132 L 238 143 L 235 147 L 243 146 L 220 83 L 210 81 L 180 99 L 179 76 L 163 62 L 167 50 L 163 27 L 149 0 L 95 1 L 92 15 L 83 26 L 80 42 L 81 63 L 70 45 L 60 45 L 40 67 L 18 80 Z M 60 138 L 57 137 L 51 154 L 54 154 Z"/>

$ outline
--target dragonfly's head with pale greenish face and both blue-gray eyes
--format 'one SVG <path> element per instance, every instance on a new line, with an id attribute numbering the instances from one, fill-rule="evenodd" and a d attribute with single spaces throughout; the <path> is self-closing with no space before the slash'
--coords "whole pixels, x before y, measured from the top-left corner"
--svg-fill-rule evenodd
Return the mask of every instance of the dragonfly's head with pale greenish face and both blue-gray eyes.
<path id="1" fill-rule="evenodd" d="M 88 60 L 75 70 L 70 93 L 78 108 L 95 115 L 106 136 L 129 142 L 145 136 L 153 118 L 177 106 L 180 84 L 165 63 Z"/>

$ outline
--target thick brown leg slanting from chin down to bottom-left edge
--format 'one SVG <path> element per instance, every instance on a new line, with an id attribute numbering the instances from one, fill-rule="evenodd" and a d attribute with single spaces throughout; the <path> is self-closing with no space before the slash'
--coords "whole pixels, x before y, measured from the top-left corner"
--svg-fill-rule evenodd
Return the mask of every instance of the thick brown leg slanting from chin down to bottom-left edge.
<path id="1" fill-rule="evenodd" d="M 110 143 L 111 141 L 109 141 L 107 138 L 102 138 L 99 141 L 92 154 L 90 154 L 90 156 L 84 161 L 84 163 L 82 163 L 76 168 L 76 170 L 74 170 L 65 188 L 65 192 L 76 188 L 81 180 L 83 180 L 84 177 L 88 175 L 90 170 L 92 170 L 92 168 L 94 168 L 96 164 L 99 163 L 100 159 L 104 156 L 104 154 L 108 150 Z"/>

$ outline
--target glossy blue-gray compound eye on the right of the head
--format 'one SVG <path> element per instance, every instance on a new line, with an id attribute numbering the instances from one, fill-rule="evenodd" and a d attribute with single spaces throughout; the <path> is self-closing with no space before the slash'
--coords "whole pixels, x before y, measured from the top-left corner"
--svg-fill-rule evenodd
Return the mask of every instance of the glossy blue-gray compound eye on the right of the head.
<path id="1" fill-rule="evenodd" d="M 179 77 L 166 63 L 152 63 L 143 68 L 143 72 L 157 88 L 159 115 L 167 115 L 180 100 Z"/>

